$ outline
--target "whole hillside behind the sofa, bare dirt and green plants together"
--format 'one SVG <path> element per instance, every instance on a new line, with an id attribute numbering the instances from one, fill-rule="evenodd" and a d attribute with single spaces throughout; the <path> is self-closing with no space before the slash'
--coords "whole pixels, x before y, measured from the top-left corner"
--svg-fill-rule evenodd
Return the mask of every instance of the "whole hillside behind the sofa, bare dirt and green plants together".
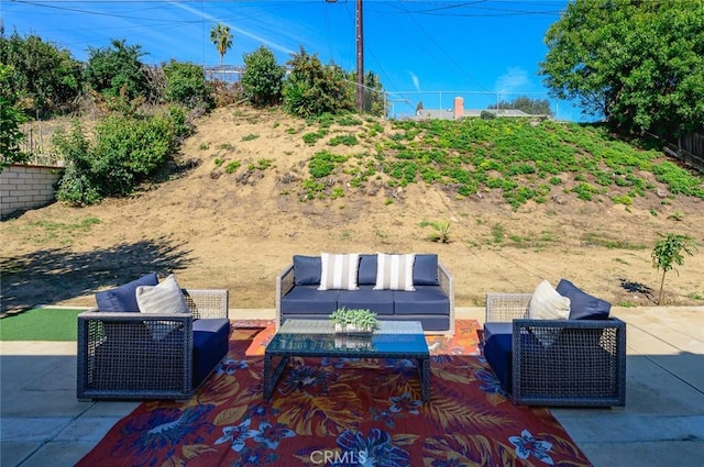
<path id="1" fill-rule="evenodd" d="M 292 255 L 321 251 L 438 253 L 458 305 L 562 277 L 614 304 L 653 304 L 658 233 L 702 244 L 704 200 L 671 194 L 638 162 L 662 157 L 652 151 L 578 125 L 543 125 L 535 140 L 521 135 L 527 124 L 481 126 L 495 133 L 477 140 L 477 124 L 470 141 L 436 124 L 308 124 L 276 111 L 218 109 L 197 122 L 179 155 L 188 169 L 168 181 L 129 199 L 55 203 L 2 222 L 3 310 L 92 304 L 95 290 L 148 270 L 174 271 L 184 287 L 227 288 L 233 308 L 273 308 L 275 277 Z M 527 149 L 529 162 L 518 157 Z M 330 174 L 312 179 L 311 158 L 314 170 Z M 624 158 L 627 169 L 615 165 Z M 428 224 L 440 222 L 450 223 L 448 244 L 429 240 L 437 231 Z M 703 278 L 700 248 L 679 276 L 668 275 L 666 302 L 704 304 Z"/>

